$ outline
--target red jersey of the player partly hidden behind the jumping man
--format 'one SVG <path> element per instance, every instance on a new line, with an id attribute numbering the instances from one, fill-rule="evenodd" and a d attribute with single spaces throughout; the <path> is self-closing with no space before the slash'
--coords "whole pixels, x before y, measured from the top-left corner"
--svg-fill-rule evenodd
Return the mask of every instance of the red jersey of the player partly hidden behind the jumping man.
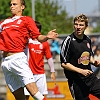
<path id="1" fill-rule="evenodd" d="M 33 74 L 44 74 L 44 57 L 51 58 L 49 43 L 29 39 L 28 61 Z M 45 55 L 45 56 L 44 56 Z"/>

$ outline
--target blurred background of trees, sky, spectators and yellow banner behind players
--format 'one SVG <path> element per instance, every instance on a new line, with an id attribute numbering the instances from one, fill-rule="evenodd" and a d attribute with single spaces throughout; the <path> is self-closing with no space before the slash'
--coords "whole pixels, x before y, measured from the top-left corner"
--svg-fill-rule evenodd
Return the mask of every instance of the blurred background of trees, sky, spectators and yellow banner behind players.
<path id="1" fill-rule="evenodd" d="M 59 37 L 54 41 L 48 41 L 55 64 L 57 86 L 54 86 L 50 79 L 50 71 L 45 61 L 45 70 L 49 94 L 48 100 L 73 100 L 68 91 L 67 79 L 60 66 L 59 53 L 52 51 L 53 45 L 60 46 L 63 39 L 73 32 L 73 18 L 80 13 L 86 14 L 89 18 L 89 27 L 85 31 L 91 40 L 94 51 L 94 58 L 100 60 L 100 0 L 25 0 L 26 9 L 23 15 L 31 16 L 34 20 L 42 24 L 42 34 L 47 34 L 51 29 L 56 28 Z M 0 21 L 10 17 L 10 0 L 0 0 Z M 57 43 L 57 44 L 56 44 Z M 55 46 L 54 46 L 55 47 Z M 2 61 L 2 51 L 0 51 L 0 61 Z M 92 66 L 93 71 L 100 77 L 99 68 Z M 52 92 L 53 91 L 53 92 Z M 58 94 L 54 94 L 54 91 Z M 58 91 L 58 92 L 57 92 Z M 14 100 L 10 91 L 6 87 L 4 75 L 0 68 L 0 100 Z M 55 100 L 55 99 L 54 99 Z M 92 99 L 91 99 L 92 100 Z"/>

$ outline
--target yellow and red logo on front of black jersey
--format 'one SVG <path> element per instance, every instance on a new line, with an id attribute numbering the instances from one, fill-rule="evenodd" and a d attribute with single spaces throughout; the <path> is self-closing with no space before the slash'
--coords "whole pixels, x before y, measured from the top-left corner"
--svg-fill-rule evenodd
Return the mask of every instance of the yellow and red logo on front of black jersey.
<path id="1" fill-rule="evenodd" d="M 78 59 L 78 64 L 88 65 L 89 64 L 89 52 L 85 51 L 82 53 L 81 57 Z"/>

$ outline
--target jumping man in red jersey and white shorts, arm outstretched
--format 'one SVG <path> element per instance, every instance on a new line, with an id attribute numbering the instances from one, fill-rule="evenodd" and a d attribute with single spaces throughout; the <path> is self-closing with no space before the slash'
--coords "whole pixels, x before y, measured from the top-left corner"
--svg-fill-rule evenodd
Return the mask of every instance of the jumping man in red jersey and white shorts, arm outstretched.
<path id="1" fill-rule="evenodd" d="M 24 86 L 33 98 L 46 100 L 35 84 L 27 57 L 24 54 L 24 48 L 28 37 L 44 42 L 56 38 L 57 33 L 52 30 L 47 35 L 41 35 L 34 20 L 28 16 L 22 16 L 24 8 L 24 0 L 11 0 L 12 17 L 0 23 L 0 50 L 4 51 L 1 66 L 6 83 L 16 100 L 25 100 Z"/>

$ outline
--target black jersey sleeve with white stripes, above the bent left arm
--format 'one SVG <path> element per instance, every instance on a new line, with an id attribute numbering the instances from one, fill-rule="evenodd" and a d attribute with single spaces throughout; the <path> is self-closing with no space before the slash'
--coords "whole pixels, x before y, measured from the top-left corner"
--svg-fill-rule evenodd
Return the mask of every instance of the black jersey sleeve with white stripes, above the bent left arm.
<path id="1" fill-rule="evenodd" d="M 61 52 L 60 52 L 60 61 L 61 63 L 67 63 L 70 57 L 70 44 L 71 44 L 71 37 L 68 36 L 64 39 L 61 45 Z"/>

